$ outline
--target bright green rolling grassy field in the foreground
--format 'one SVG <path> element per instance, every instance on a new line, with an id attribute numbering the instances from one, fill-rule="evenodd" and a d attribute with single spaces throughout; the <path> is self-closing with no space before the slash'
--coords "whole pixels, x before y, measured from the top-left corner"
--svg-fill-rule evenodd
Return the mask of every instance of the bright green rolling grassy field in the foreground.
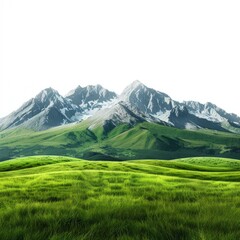
<path id="1" fill-rule="evenodd" d="M 240 239 L 240 161 L 0 163 L 0 239 Z"/>

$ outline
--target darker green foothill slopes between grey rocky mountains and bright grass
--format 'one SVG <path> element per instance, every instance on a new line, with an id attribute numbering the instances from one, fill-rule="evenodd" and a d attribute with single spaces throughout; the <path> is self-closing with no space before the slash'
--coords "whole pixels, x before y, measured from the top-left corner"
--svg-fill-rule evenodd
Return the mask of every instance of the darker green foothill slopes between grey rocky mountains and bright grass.
<path id="1" fill-rule="evenodd" d="M 240 158 L 240 135 L 210 130 L 188 131 L 153 123 L 103 128 L 83 121 L 34 132 L 0 132 L 0 160 L 31 155 L 84 159 L 174 159 L 193 156 Z"/>

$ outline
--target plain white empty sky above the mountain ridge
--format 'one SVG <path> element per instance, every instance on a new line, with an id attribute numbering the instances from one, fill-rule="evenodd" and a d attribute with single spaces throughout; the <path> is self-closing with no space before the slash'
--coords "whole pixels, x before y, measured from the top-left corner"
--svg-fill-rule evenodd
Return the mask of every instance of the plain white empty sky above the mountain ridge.
<path id="1" fill-rule="evenodd" d="M 0 117 L 39 91 L 138 79 L 240 115 L 240 2 L 0 0 Z"/>

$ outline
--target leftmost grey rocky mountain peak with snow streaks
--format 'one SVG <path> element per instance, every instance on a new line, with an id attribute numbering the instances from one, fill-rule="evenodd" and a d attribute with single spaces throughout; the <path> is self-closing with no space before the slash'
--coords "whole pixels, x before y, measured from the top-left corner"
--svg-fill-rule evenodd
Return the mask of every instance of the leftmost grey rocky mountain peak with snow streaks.
<path id="1" fill-rule="evenodd" d="M 31 129 L 43 130 L 77 121 L 77 115 L 81 112 L 80 107 L 63 98 L 56 90 L 47 88 L 3 118 L 0 129 L 23 125 Z"/>

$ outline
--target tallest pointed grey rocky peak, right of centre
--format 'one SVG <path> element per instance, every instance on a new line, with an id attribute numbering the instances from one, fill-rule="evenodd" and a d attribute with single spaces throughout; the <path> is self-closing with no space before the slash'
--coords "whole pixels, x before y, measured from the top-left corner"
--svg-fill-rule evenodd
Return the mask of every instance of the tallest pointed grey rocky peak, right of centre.
<path id="1" fill-rule="evenodd" d="M 148 88 L 138 80 L 124 89 L 119 100 L 152 115 L 161 115 L 177 104 L 167 94 Z"/>

